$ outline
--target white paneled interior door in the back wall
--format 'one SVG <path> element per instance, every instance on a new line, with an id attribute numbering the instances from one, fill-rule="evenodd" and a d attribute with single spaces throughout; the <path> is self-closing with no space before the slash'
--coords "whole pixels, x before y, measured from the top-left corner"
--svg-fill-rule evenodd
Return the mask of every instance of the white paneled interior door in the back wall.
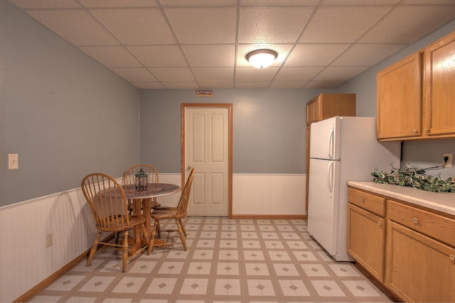
<path id="1" fill-rule="evenodd" d="M 228 108 L 186 108 L 185 167 L 196 169 L 189 216 L 229 215 L 229 129 Z"/>

